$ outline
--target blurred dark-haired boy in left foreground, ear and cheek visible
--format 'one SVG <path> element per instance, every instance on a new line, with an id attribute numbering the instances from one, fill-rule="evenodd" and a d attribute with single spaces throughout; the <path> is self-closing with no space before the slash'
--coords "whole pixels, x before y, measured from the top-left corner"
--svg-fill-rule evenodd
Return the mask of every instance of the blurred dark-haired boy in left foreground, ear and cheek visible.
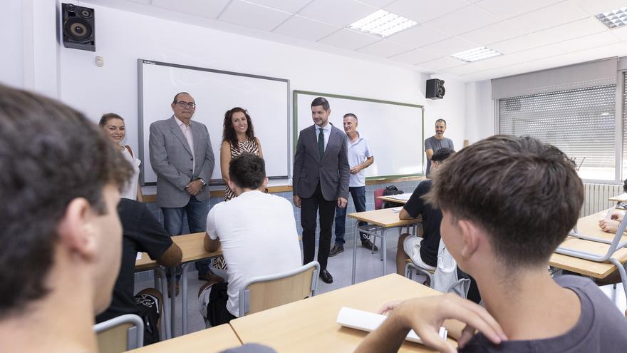
<path id="1" fill-rule="evenodd" d="M 130 164 L 83 114 L 0 85 L 0 170 L 2 350 L 95 352 Z"/>

